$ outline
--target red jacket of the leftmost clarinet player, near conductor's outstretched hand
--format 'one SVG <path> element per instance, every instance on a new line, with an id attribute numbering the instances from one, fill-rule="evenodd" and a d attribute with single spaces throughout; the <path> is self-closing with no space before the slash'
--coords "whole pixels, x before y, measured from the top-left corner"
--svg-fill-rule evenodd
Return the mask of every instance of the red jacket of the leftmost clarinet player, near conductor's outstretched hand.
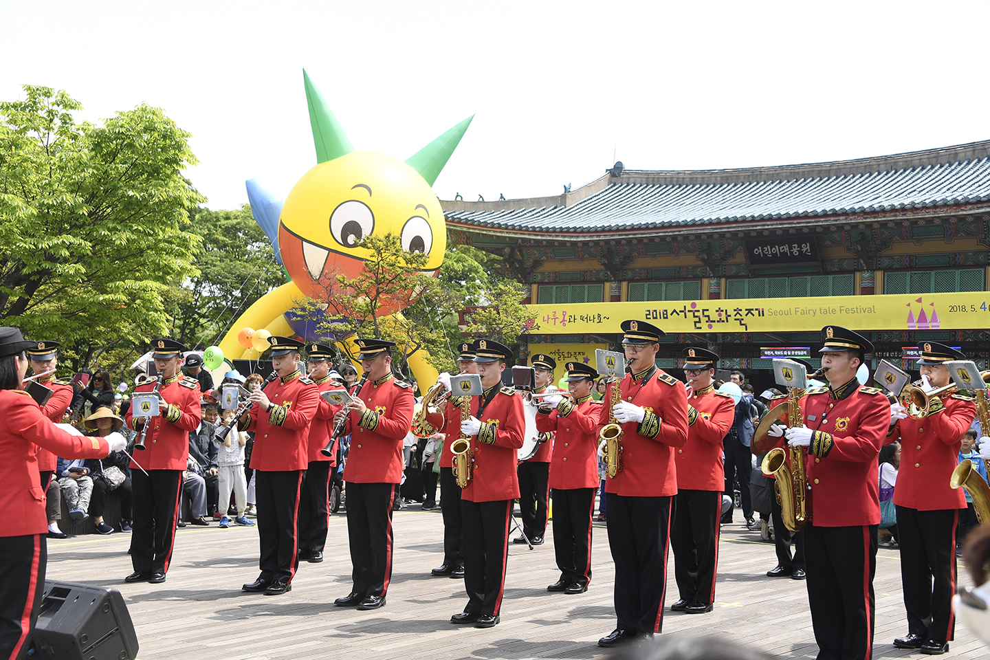
<path id="1" fill-rule="evenodd" d="M 135 394 L 150 392 L 154 383 L 135 388 Z M 161 381 L 158 394 L 168 404 L 160 409 L 158 417 L 151 418 L 145 435 L 145 450 L 138 452 L 141 466 L 146 470 L 184 470 L 189 457 L 189 431 L 196 430 L 200 422 L 199 381 L 182 374 Z M 134 416 L 134 407 L 128 410 L 124 422 L 141 433 L 141 416 Z M 131 469 L 138 464 L 131 461 Z"/>

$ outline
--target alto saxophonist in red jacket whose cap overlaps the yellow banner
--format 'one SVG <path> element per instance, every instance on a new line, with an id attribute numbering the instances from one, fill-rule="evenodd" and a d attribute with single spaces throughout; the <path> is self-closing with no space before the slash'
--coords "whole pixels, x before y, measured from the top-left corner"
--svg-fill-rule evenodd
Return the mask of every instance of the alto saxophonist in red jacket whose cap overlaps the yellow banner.
<path id="1" fill-rule="evenodd" d="M 619 387 L 615 417 L 623 428 L 622 470 L 605 481 L 618 624 L 598 640 L 600 646 L 652 637 L 661 629 L 677 494 L 674 455 L 687 442 L 683 385 L 656 368 L 663 330 L 644 321 L 624 321 L 621 327 L 629 375 L 609 386 L 599 420 L 609 423 L 612 391 Z"/>

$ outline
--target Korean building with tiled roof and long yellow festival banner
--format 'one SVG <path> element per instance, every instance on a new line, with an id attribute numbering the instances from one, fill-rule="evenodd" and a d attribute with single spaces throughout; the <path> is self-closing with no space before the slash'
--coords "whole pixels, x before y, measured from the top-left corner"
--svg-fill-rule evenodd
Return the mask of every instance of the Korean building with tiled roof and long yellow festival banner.
<path id="1" fill-rule="evenodd" d="M 648 171 L 616 165 L 554 197 L 442 201 L 451 243 L 504 257 L 528 285 L 534 350 L 593 359 L 648 319 L 679 348 L 772 384 L 771 356 L 811 357 L 823 326 L 916 371 L 918 341 L 990 362 L 990 141 L 804 165 Z"/>

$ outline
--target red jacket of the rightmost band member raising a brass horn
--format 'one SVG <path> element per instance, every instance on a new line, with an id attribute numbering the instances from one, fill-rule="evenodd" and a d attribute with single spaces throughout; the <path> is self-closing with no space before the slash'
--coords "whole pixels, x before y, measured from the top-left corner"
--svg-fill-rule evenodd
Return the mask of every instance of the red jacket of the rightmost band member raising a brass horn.
<path id="1" fill-rule="evenodd" d="M 976 405 L 960 394 L 938 400 L 927 418 L 898 420 L 887 437 L 887 444 L 901 441 L 895 505 L 918 511 L 966 508 L 962 489 L 952 490 L 948 478 L 959 463 L 962 434 L 976 417 Z"/>

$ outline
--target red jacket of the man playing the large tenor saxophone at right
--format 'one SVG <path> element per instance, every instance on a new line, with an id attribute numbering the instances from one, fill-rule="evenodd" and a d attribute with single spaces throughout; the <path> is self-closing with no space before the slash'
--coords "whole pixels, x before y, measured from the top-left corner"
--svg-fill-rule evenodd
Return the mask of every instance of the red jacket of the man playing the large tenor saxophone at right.
<path id="1" fill-rule="evenodd" d="M 890 428 L 890 402 L 853 378 L 837 390 L 808 390 L 801 399 L 811 428 L 808 484 L 812 523 L 843 527 L 880 523 L 877 458 Z M 900 481 L 900 479 L 898 479 Z"/>

